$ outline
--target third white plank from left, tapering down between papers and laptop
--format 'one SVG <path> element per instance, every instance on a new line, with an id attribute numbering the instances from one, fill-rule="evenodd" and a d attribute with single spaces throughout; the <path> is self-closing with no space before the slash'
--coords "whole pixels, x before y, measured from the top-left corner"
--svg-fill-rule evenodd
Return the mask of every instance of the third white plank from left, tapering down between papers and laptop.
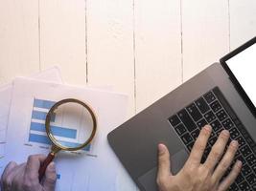
<path id="1" fill-rule="evenodd" d="M 128 95 L 134 115 L 132 0 L 87 0 L 90 85 L 110 85 Z"/>

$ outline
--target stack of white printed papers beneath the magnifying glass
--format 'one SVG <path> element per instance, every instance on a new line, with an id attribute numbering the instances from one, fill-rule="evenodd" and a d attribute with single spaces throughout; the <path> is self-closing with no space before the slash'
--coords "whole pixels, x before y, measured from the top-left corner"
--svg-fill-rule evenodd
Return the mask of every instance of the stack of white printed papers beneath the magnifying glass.
<path id="1" fill-rule="evenodd" d="M 55 159 L 58 172 L 56 190 L 114 191 L 121 166 L 107 143 L 106 135 L 125 121 L 128 96 L 99 88 L 63 84 L 56 67 L 31 78 L 17 77 L 11 84 L 0 88 L 0 167 L 3 170 L 11 160 L 24 162 L 30 155 L 47 155 L 51 145 L 32 138 L 37 135 L 32 129 L 33 111 L 35 107 L 49 110 L 51 103 L 70 97 L 89 103 L 94 109 L 98 131 L 92 149 L 81 151 L 80 155 L 58 153 Z M 47 138 L 45 132 L 38 135 Z"/>

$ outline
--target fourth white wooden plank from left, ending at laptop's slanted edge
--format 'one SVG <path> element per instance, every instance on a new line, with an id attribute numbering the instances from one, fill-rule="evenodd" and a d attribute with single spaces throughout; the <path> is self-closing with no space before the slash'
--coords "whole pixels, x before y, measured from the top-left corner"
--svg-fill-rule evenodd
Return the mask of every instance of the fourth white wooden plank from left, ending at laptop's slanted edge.
<path id="1" fill-rule="evenodd" d="M 179 0 L 135 1 L 137 112 L 181 83 Z"/>

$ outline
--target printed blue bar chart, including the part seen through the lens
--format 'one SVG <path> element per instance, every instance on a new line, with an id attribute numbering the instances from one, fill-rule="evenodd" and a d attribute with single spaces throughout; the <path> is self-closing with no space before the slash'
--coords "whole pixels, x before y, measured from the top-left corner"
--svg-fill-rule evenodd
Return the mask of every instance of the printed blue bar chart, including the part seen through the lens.
<path id="1" fill-rule="evenodd" d="M 45 131 L 45 119 L 56 101 L 34 98 L 30 128 L 30 142 L 51 144 Z M 93 119 L 89 111 L 78 103 L 64 103 L 51 115 L 50 132 L 56 142 L 64 147 L 76 148 L 90 138 L 93 130 Z M 82 148 L 90 151 L 91 144 Z"/>

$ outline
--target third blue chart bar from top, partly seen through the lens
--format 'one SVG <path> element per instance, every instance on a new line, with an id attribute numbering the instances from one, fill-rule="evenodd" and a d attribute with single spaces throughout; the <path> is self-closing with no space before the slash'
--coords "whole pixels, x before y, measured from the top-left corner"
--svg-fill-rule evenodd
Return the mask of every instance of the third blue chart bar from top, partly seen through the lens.
<path id="1" fill-rule="evenodd" d="M 45 125 L 42 123 L 31 122 L 31 130 L 45 132 Z M 51 126 L 51 131 L 54 136 L 63 138 L 77 138 L 77 130 L 58 126 Z"/>

